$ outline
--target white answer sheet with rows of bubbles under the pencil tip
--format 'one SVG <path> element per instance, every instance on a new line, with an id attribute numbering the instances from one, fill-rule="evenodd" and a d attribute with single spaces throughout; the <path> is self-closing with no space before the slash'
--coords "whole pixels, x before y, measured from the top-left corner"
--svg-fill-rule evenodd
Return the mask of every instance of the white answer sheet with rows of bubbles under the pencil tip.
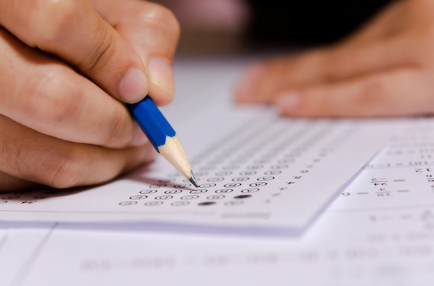
<path id="1" fill-rule="evenodd" d="M 103 186 L 4 195 L 1 220 L 300 234 L 407 124 L 290 119 L 271 107 L 237 106 L 230 90 L 241 67 L 236 62 L 175 65 L 177 100 L 163 112 L 182 140 L 200 188 L 159 157 Z"/>

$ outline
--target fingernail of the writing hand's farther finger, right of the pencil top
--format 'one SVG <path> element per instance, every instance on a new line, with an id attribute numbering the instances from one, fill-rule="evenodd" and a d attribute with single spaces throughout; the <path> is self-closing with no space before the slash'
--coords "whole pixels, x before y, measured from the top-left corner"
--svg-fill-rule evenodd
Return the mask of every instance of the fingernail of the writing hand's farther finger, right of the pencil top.
<path id="1" fill-rule="evenodd" d="M 163 57 L 154 57 L 148 62 L 150 80 L 160 89 L 173 95 L 173 71 L 172 64 Z"/>

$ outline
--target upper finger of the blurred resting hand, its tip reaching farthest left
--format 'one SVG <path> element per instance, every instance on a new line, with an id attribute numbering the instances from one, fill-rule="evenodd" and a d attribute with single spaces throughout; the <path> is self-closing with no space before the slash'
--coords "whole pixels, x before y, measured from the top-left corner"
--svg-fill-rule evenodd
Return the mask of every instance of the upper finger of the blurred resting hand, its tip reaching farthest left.
<path id="1" fill-rule="evenodd" d="M 336 82 L 413 64 L 413 42 L 397 38 L 365 44 L 336 45 L 300 56 L 254 64 L 236 87 L 239 102 L 272 102 L 284 89 Z"/>

